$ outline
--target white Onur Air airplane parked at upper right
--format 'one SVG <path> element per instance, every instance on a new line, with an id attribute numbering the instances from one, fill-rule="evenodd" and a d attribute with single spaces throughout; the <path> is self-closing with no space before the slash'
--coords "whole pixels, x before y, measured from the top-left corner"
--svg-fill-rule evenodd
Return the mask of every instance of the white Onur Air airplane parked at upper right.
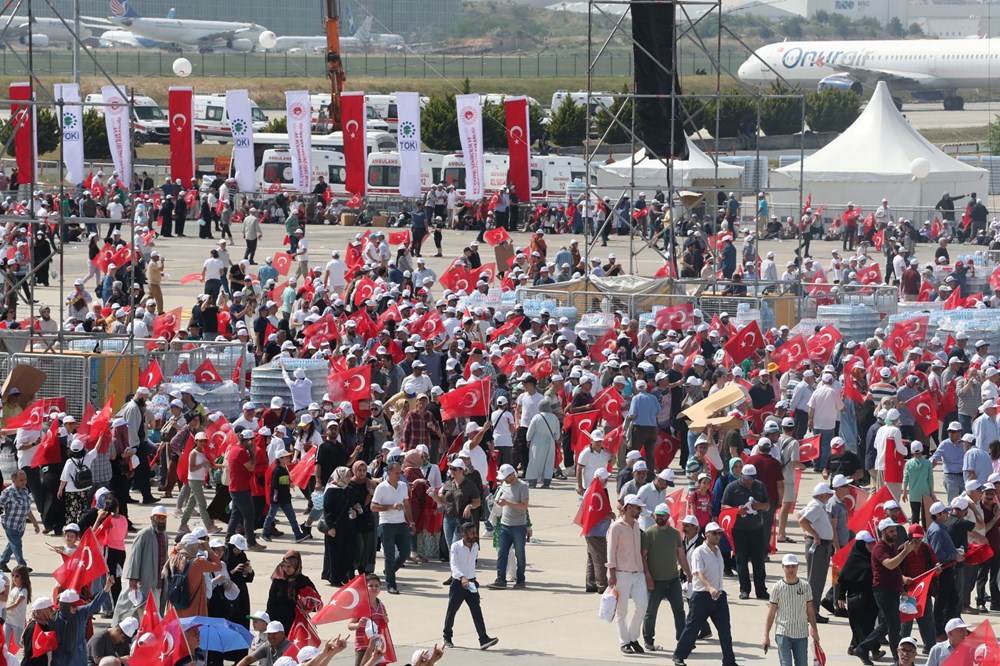
<path id="1" fill-rule="evenodd" d="M 965 100 L 957 91 L 990 87 L 997 71 L 1000 39 L 908 39 L 768 44 L 740 65 L 738 76 L 760 85 L 780 77 L 857 93 L 885 81 L 892 90 L 937 93 L 946 110 L 960 111 Z"/>

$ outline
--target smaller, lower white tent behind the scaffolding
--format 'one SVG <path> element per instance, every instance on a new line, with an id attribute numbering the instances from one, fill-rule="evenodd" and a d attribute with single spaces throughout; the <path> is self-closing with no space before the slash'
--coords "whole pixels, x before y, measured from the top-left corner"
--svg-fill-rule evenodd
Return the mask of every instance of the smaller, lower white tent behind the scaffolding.
<path id="1" fill-rule="evenodd" d="M 674 169 L 675 188 L 719 187 L 739 188 L 743 178 L 743 167 L 719 163 L 716 180 L 715 160 L 706 155 L 688 137 L 688 159 L 671 160 Z M 635 155 L 623 160 L 597 167 L 597 189 L 605 196 L 614 196 L 611 190 L 629 187 L 632 182 L 632 163 L 635 162 L 635 187 L 655 190 L 667 187 L 667 165 L 664 161 L 648 157 L 641 149 Z"/>

